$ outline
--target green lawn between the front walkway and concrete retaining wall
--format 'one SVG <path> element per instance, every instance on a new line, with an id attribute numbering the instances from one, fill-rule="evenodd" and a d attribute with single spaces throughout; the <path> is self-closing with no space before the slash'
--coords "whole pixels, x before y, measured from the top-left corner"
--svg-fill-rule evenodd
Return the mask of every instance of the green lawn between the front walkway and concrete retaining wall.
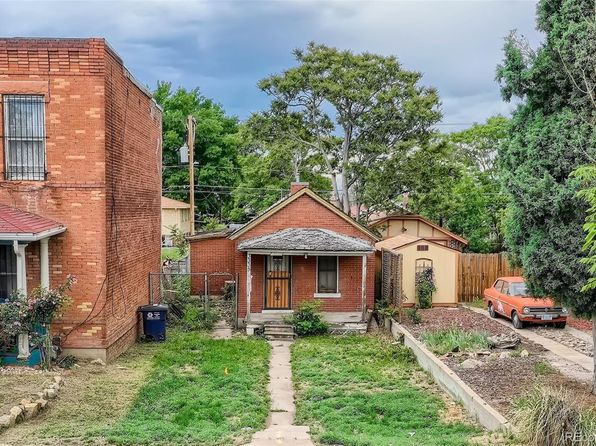
<path id="1" fill-rule="evenodd" d="M 292 346 L 296 423 L 344 446 L 456 446 L 474 426 L 447 424 L 437 395 L 412 384 L 410 350 L 373 336 L 314 337 Z"/>

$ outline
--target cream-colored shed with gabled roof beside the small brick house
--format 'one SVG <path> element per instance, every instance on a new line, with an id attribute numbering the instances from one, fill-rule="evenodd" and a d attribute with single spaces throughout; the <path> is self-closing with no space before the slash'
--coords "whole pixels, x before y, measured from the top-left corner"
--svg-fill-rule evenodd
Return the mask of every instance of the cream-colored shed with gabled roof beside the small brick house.
<path id="1" fill-rule="evenodd" d="M 402 289 L 404 306 L 416 304 L 416 273 L 431 267 L 437 290 L 432 296 L 435 307 L 456 306 L 459 250 L 422 237 L 402 234 L 382 240 L 375 245 L 377 271 L 381 270 L 383 250 L 402 256 Z"/>

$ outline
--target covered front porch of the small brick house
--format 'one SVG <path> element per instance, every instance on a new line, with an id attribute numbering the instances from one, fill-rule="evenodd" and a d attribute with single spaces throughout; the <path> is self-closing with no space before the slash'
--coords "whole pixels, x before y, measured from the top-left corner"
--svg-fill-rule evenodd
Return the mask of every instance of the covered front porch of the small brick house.
<path id="1" fill-rule="evenodd" d="M 289 228 L 241 241 L 247 326 L 282 320 L 318 299 L 332 325 L 361 325 L 372 306 L 374 247 L 322 228 Z"/>

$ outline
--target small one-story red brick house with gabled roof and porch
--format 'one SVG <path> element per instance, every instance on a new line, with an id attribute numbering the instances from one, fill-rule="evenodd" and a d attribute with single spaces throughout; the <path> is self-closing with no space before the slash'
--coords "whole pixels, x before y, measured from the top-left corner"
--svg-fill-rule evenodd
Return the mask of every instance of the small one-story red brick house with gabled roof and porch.
<path id="1" fill-rule="evenodd" d="M 192 272 L 209 274 L 210 293 L 238 278 L 240 325 L 280 319 L 313 299 L 340 323 L 361 322 L 374 306 L 378 238 L 306 183 L 240 228 L 189 240 Z M 202 287 L 195 277 L 193 288 Z"/>

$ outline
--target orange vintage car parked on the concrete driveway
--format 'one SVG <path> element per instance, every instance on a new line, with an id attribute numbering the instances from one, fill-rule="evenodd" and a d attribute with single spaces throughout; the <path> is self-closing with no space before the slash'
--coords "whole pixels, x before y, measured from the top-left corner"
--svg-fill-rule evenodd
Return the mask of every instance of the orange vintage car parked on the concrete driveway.
<path id="1" fill-rule="evenodd" d="M 515 328 L 526 323 L 553 324 L 565 328 L 567 309 L 548 298 L 529 296 L 523 277 L 499 277 L 484 290 L 484 303 L 491 317 L 505 316 Z"/>

